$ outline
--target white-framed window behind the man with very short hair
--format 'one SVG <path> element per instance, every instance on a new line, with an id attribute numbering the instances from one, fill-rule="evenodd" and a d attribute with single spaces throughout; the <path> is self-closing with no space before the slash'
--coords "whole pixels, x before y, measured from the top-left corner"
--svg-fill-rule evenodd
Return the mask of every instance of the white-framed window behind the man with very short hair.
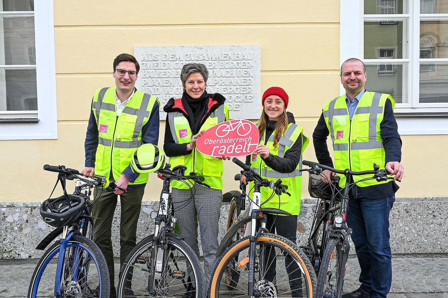
<path id="1" fill-rule="evenodd" d="M 359 20 L 359 34 L 346 18 Z M 350 57 L 366 64 L 366 89 L 392 94 L 396 112 L 447 113 L 448 0 L 341 1 L 341 60 Z"/>

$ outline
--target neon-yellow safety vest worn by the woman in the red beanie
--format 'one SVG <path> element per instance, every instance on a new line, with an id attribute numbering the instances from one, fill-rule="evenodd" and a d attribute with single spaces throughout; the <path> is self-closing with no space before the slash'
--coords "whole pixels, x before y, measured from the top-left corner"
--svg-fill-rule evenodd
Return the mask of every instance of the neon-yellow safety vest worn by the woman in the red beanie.
<path id="1" fill-rule="evenodd" d="M 281 136 L 277 148 L 274 148 L 274 136 L 275 130 L 272 132 L 271 136 L 267 140 L 266 146 L 269 148 L 269 153 L 272 155 L 276 155 L 280 158 L 284 158 L 285 153 L 293 146 L 299 136 L 302 136 L 302 150 L 300 153 L 300 160 L 297 165 L 297 168 L 293 170 L 291 173 L 279 173 L 275 170 L 272 170 L 270 167 L 266 165 L 259 154 L 252 155 L 252 157 L 256 157 L 254 161 L 251 158 L 251 168 L 262 176 L 265 179 L 277 181 L 277 179 L 282 180 L 282 184 L 288 186 L 287 192 L 291 194 L 288 196 L 287 194 L 281 194 L 280 198 L 278 195 L 274 194 L 271 197 L 273 190 L 269 187 L 261 188 L 261 203 L 267 201 L 267 203 L 263 204 L 263 208 L 279 208 L 284 211 L 291 213 L 292 215 L 298 215 L 300 213 L 300 198 L 302 192 L 302 172 L 299 172 L 302 169 L 302 153 L 305 151 L 306 146 L 310 140 L 303 135 L 303 128 L 294 123 L 289 123 L 288 128 L 284 132 L 283 136 Z M 262 136 L 260 142 L 258 144 L 264 144 L 264 140 L 266 138 L 266 131 Z M 249 189 L 252 187 L 250 186 Z"/>

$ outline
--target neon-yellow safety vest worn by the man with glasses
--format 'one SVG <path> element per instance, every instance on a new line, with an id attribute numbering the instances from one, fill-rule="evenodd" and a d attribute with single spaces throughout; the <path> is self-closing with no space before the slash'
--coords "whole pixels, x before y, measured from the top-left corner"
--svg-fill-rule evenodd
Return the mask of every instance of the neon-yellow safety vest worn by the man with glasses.
<path id="1" fill-rule="evenodd" d="M 115 181 L 131 162 L 132 155 L 142 145 L 142 127 L 148 122 L 157 97 L 135 91 L 120 116 L 116 115 L 115 87 L 99 88 L 93 96 L 92 110 L 98 126 L 98 148 L 95 156 L 95 174 Z M 140 174 L 129 184 L 148 181 L 148 174 Z"/>

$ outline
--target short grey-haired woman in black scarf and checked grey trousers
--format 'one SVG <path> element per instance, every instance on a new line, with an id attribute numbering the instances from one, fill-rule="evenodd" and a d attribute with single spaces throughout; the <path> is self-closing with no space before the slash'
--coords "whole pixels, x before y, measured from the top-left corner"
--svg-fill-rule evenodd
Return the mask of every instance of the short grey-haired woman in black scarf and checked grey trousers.
<path id="1" fill-rule="evenodd" d="M 171 98 L 164 106 L 164 111 L 167 112 L 164 151 L 169 157 L 169 163 L 173 168 L 178 165 L 186 166 L 186 173 L 194 171 L 204 177 L 204 183 L 210 185 L 207 188 L 193 181 L 171 182 L 172 200 L 178 210 L 176 217 L 181 235 L 198 256 L 199 221 L 205 289 L 216 266 L 224 156 L 216 159 L 203 155 L 196 149 L 196 140 L 204 130 L 229 118 L 229 106 L 224 105 L 224 96 L 207 93 L 207 78 L 208 70 L 205 65 L 185 64 L 181 71 L 184 89 L 182 97 Z M 184 296 L 194 297 L 194 292 L 187 294 L 189 295 Z"/>

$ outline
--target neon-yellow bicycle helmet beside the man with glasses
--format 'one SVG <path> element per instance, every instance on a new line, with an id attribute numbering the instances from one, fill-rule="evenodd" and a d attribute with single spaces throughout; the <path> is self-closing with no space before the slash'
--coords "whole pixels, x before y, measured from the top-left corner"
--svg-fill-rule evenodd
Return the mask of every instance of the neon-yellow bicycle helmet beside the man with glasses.
<path id="1" fill-rule="evenodd" d="M 131 165 L 138 173 L 152 173 L 163 169 L 166 165 L 164 151 L 159 146 L 143 144 L 135 150 Z"/>

